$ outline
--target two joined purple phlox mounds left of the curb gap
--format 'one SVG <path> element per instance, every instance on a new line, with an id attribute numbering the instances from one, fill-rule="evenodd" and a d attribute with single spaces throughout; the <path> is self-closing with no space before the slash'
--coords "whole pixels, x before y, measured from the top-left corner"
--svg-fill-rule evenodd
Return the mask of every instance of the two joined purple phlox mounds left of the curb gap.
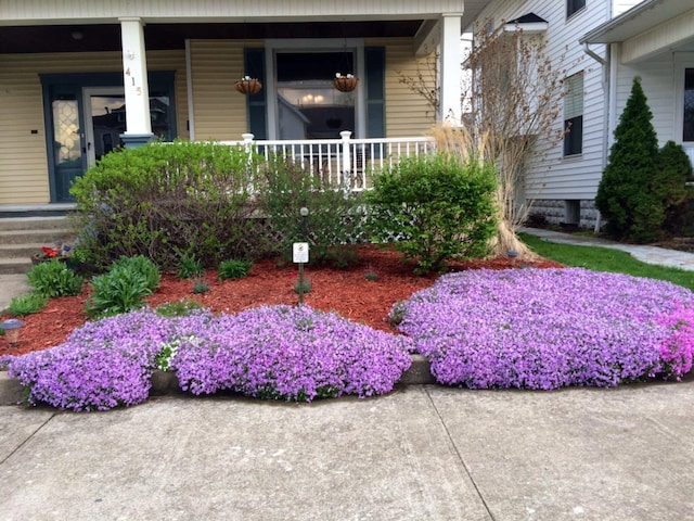
<path id="1" fill-rule="evenodd" d="M 307 306 L 175 318 L 142 309 L 88 322 L 64 344 L 0 365 L 26 387 L 29 404 L 87 411 L 144 402 L 162 364 L 194 394 L 229 389 L 307 402 L 382 394 L 410 366 L 410 348 L 407 338 Z M 171 357 L 162 360 L 167 350 Z"/>

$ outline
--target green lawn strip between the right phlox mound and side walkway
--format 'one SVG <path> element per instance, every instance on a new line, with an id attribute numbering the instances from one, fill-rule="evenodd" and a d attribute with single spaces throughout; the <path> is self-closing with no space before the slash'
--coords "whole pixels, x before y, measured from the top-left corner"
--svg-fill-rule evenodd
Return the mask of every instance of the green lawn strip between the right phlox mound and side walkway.
<path id="1" fill-rule="evenodd" d="M 608 247 L 558 244 L 528 233 L 518 237 L 538 255 L 566 266 L 667 280 L 694 291 L 694 271 L 642 263 L 627 252 Z"/>

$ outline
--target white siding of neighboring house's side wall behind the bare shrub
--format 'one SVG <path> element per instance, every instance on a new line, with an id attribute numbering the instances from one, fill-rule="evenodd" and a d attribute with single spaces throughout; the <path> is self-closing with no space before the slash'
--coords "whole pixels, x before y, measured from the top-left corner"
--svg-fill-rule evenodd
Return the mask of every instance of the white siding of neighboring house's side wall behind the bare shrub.
<path id="1" fill-rule="evenodd" d="M 560 142 L 526 177 L 526 194 L 530 199 L 593 199 L 602 177 L 605 145 L 605 90 L 603 67 L 583 52 L 578 39 L 609 17 L 611 5 L 603 0 L 587 0 L 586 9 L 566 21 L 566 3 L 549 0 L 497 0 L 484 11 L 480 21 L 491 18 L 494 25 L 502 21 L 535 13 L 549 22 L 548 54 L 555 69 L 565 69 L 566 76 L 583 71 L 583 152 L 579 157 L 563 157 Z M 567 49 L 567 50 L 566 50 Z M 604 50 L 591 48 L 604 56 Z M 565 52 L 564 62 L 560 56 Z M 563 126 L 563 115 L 555 122 Z"/>

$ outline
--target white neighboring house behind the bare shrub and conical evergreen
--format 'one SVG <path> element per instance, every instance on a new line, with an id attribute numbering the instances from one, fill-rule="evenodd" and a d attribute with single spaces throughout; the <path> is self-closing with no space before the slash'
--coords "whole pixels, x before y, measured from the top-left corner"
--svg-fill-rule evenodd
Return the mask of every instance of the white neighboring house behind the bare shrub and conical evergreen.
<path id="1" fill-rule="evenodd" d="M 544 33 L 571 87 L 556 122 L 571 131 L 526 175 L 534 211 L 570 225 L 599 221 L 593 200 L 634 76 L 660 145 L 673 140 L 694 158 L 693 0 L 494 0 L 476 18 L 494 27 L 511 21 Z"/>

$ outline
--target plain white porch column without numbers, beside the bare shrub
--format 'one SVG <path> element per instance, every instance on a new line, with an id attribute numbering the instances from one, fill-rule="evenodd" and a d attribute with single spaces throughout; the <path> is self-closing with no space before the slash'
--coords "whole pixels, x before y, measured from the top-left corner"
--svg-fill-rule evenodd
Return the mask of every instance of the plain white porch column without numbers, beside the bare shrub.
<path id="1" fill-rule="evenodd" d="M 462 105 L 461 68 L 463 53 L 461 49 L 461 14 L 444 14 L 441 17 L 440 41 L 440 100 L 439 120 L 460 123 Z"/>

